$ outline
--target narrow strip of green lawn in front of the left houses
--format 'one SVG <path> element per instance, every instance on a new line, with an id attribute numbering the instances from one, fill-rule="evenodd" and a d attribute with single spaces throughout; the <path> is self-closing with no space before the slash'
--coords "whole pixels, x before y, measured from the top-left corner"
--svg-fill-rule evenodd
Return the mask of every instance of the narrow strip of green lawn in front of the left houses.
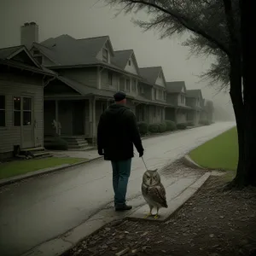
<path id="1" fill-rule="evenodd" d="M 0 178 L 13 177 L 16 175 L 34 172 L 49 167 L 61 166 L 64 164 L 74 164 L 86 159 L 83 158 L 58 158 L 49 157 L 44 159 L 15 160 L 0 164 Z"/>

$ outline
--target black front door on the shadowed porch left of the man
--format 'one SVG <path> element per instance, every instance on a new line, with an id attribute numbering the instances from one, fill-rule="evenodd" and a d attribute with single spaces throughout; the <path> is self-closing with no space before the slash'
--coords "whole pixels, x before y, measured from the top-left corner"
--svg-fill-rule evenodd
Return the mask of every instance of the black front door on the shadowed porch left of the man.
<path id="1" fill-rule="evenodd" d="M 73 135 L 84 135 L 84 102 L 73 103 Z"/>

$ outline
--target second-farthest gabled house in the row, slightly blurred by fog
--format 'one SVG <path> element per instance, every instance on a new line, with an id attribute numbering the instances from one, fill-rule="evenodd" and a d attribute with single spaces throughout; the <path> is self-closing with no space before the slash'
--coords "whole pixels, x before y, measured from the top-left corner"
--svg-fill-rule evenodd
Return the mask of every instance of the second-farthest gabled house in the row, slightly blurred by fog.
<path id="1" fill-rule="evenodd" d="M 166 119 L 176 122 L 176 124 L 187 123 L 187 114 L 191 109 L 186 104 L 186 84 L 184 81 L 174 81 L 166 83 L 167 103 L 173 107 L 166 108 Z"/>

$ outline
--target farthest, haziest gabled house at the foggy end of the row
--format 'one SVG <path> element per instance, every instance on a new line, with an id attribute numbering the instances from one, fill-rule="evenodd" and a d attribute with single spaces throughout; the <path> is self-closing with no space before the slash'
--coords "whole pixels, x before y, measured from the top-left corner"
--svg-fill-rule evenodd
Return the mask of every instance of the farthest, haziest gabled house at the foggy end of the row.
<path id="1" fill-rule="evenodd" d="M 187 90 L 186 94 L 186 104 L 191 109 L 188 111 L 187 120 L 188 122 L 193 123 L 194 125 L 199 124 L 200 115 L 201 115 L 201 102 L 203 97 L 201 90 Z"/>

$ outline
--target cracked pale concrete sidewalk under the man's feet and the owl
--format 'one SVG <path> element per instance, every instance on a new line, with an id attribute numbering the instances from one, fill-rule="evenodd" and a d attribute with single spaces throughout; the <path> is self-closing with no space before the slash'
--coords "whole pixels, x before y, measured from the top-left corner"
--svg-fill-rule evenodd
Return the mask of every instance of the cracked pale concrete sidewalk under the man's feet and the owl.
<path id="1" fill-rule="evenodd" d="M 145 204 L 143 196 L 138 194 L 128 200 L 128 203 L 133 206 L 131 211 L 114 212 L 113 204 L 108 204 L 101 211 L 96 212 L 96 214 L 88 218 L 83 224 L 80 224 L 73 230 L 69 230 L 62 236 L 44 242 L 22 256 L 61 255 L 75 246 L 79 241 L 82 241 L 85 236 L 91 235 L 113 220 L 139 218 L 144 221 L 165 221 L 179 207 L 182 207 L 183 203 L 188 201 L 197 189 L 201 188 L 201 185 L 206 182 L 209 176 L 210 172 L 193 171 L 186 167 L 183 167 L 182 170 L 172 170 L 171 166 L 171 168 L 167 168 L 161 173 L 164 186 L 166 187 L 168 208 L 160 209 L 160 218 L 157 220 L 154 220 L 154 218 L 144 219 L 144 216 L 148 213 L 148 205 Z"/>

